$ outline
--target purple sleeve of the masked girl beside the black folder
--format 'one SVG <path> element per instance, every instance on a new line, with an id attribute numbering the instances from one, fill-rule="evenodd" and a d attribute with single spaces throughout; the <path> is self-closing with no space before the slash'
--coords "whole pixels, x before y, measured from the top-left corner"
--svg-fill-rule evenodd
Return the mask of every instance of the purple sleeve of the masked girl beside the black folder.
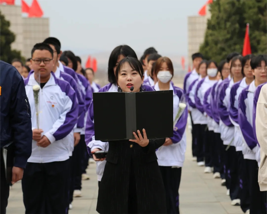
<path id="1" fill-rule="evenodd" d="M 177 96 L 181 100 L 182 96 L 185 96 L 183 90 L 178 88 L 178 87 L 175 87 L 175 89 L 177 92 Z M 184 131 L 186 129 L 187 117 L 188 117 L 188 109 L 186 106 L 181 117 L 179 118 L 179 120 L 177 121 L 177 123 L 174 127 L 173 137 L 171 137 L 171 140 L 173 143 L 178 143 L 181 141 L 183 134 L 184 134 Z"/>

